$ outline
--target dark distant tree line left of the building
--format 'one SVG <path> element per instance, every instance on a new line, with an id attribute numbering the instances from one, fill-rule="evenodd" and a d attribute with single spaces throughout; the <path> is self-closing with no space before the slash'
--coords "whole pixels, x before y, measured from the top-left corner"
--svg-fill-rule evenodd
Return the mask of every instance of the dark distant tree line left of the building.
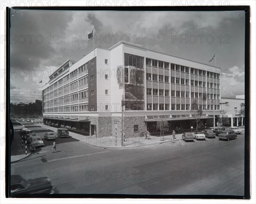
<path id="1" fill-rule="evenodd" d="M 42 101 L 35 100 L 35 102 L 30 102 L 29 104 L 20 103 L 10 103 L 10 116 L 11 117 L 25 117 L 25 116 L 42 116 Z"/>

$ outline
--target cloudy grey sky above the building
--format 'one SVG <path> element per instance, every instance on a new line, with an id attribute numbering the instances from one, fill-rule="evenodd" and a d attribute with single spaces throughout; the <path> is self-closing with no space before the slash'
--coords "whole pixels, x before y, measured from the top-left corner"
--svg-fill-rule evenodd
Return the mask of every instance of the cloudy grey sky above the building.
<path id="1" fill-rule="evenodd" d="M 41 99 L 41 80 L 47 83 L 52 71 L 67 59 L 78 60 L 93 49 L 86 38 L 93 29 L 95 37 L 102 39 L 95 46 L 102 48 L 110 48 L 122 37 L 213 66 L 215 60 L 209 60 L 216 53 L 216 66 L 223 73 L 221 96 L 244 94 L 244 11 L 11 12 L 11 102 Z"/>

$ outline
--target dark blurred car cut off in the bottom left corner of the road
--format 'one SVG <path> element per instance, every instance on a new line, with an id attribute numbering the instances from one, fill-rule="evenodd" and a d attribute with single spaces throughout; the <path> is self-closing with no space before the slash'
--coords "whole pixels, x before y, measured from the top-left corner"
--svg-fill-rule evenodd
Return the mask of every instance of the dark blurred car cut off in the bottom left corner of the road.
<path id="1" fill-rule="evenodd" d="M 25 180 L 19 175 L 11 175 L 11 197 L 27 194 L 53 194 L 54 187 L 49 178 L 32 178 Z"/>

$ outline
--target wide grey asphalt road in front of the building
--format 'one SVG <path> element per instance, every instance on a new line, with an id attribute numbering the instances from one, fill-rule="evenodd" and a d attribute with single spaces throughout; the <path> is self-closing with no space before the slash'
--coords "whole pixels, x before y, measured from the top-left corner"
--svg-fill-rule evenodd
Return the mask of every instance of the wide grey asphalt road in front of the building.
<path id="1" fill-rule="evenodd" d="M 52 153 L 52 141 L 46 144 L 11 164 L 11 173 L 47 176 L 61 194 L 244 195 L 244 133 L 229 142 L 216 137 L 130 149 L 61 138 Z"/>

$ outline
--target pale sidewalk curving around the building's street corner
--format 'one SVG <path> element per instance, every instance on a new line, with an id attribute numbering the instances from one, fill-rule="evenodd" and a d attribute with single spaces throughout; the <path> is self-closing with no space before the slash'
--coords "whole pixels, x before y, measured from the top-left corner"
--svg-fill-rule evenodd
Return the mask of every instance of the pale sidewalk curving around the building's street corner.
<path id="1" fill-rule="evenodd" d="M 47 128 L 49 130 L 53 130 L 56 132 L 56 127 L 51 127 L 48 125 L 39 124 L 39 126 Z M 84 142 L 87 145 L 91 145 L 94 147 L 100 147 L 100 148 L 134 148 L 134 147 L 143 147 L 153 144 L 161 144 L 165 142 L 172 142 L 172 146 L 175 144 L 178 145 L 179 138 L 181 138 L 182 134 L 176 134 L 176 139 L 172 139 L 171 134 L 165 135 L 160 140 L 160 136 L 150 136 L 150 139 L 144 139 L 144 137 L 134 137 L 134 138 L 125 138 L 125 141 L 123 142 L 123 146 L 121 144 L 122 140 L 121 138 L 115 138 L 115 137 L 95 137 L 95 136 L 84 136 L 80 135 L 78 133 L 69 132 L 69 135 L 71 138 L 76 139 L 80 142 Z"/>

